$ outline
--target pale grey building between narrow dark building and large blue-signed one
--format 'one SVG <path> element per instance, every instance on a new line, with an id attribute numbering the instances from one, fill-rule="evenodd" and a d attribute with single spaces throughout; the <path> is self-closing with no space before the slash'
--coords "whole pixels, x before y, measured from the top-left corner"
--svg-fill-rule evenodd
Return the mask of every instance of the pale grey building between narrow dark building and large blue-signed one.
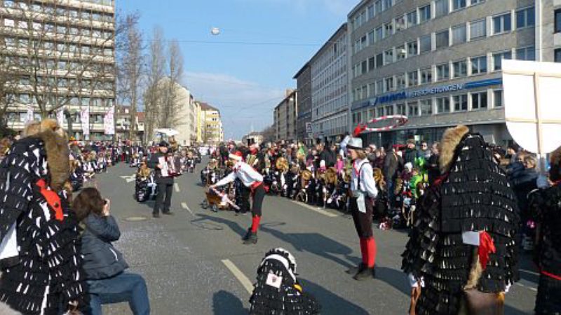
<path id="1" fill-rule="evenodd" d="M 313 137 L 339 141 L 349 130 L 348 36 L 344 23 L 310 61 Z"/>

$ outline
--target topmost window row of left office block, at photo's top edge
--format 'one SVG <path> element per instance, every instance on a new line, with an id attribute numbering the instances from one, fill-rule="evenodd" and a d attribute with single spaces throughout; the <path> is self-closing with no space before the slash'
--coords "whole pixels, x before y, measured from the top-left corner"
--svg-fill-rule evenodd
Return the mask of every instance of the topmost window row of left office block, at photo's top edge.
<path id="1" fill-rule="evenodd" d="M 88 1 L 94 2 L 94 1 Z M 97 0 L 95 1 L 100 4 L 111 4 L 110 0 Z M 104 3 L 109 2 L 109 3 Z M 67 16 L 69 18 L 80 18 L 83 20 L 95 20 L 102 22 L 113 22 L 113 14 L 96 12 L 93 10 L 86 10 L 84 8 L 67 8 L 62 6 L 62 1 L 57 1 L 57 6 L 52 6 L 48 4 L 32 3 L 28 4 L 28 1 L 14 1 L 14 0 L 4 0 L 5 8 L 19 8 L 21 10 L 29 10 L 36 13 L 44 13 L 48 15 L 56 15 L 58 17 Z"/>

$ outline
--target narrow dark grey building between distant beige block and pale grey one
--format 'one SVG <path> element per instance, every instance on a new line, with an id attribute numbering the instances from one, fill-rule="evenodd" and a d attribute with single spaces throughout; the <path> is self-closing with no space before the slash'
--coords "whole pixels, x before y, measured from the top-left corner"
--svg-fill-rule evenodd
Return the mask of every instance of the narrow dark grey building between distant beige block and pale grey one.
<path id="1" fill-rule="evenodd" d="M 306 144 L 313 142 L 311 134 L 311 67 L 309 62 L 296 73 L 296 90 L 298 91 L 298 113 L 296 119 L 296 138 Z"/>

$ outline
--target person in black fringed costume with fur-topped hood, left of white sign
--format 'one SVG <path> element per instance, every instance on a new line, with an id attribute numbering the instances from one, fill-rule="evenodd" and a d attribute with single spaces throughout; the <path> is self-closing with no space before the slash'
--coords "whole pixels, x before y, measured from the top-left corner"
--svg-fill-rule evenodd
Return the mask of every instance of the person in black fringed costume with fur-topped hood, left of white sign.
<path id="1" fill-rule="evenodd" d="M 447 130 L 440 170 L 419 202 L 403 253 L 402 269 L 424 283 L 412 303 L 418 315 L 459 314 L 467 288 L 498 293 L 501 300 L 518 280 L 516 197 L 482 136 L 462 125 Z M 464 244 L 462 235 L 470 232 L 483 240 L 479 247 Z M 495 251 L 476 255 L 489 239 Z"/>

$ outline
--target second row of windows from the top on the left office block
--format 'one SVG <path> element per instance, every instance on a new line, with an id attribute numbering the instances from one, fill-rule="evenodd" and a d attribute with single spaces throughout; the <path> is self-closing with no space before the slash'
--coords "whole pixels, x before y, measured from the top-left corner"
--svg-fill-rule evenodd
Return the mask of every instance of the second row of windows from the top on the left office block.
<path id="1" fill-rule="evenodd" d="M 81 37 L 92 37 L 110 39 L 113 37 L 112 31 L 102 31 L 101 29 L 91 29 L 89 27 L 67 27 L 65 25 L 55 25 L 51 23 L 43 24 L 40 22 L 27 22 L 24 20 L 14 20 L 4 18 L 4 27 L 13 27 L 18 29 L 27 29 L 29 31 L 39 31 L 46 34 L 63 34 L 76 36 L 76 39 Z M 74 39 L 74 38 L 73 38 Z"/>

